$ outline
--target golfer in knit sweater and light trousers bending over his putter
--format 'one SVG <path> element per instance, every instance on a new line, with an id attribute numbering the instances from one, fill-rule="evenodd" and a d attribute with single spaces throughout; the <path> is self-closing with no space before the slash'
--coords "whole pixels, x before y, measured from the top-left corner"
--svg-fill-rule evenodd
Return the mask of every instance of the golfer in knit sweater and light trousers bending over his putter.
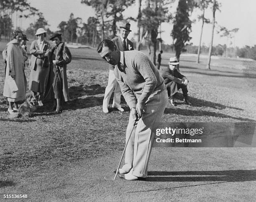
<path id="1" fill-rule="evenodd" d="M 125 151 L 125 164 L 119 169 L 119 177 L 126 180 L 146 178 L 154 141 L 153 129 L 161 121 L 168 102 L 164 79 L 150 59 L 140 51 L 119 51 L 113 41 L 105 39 L 97 52 L 108 63 L 116 66 L 115 78 L 131 109 L 126 141 L 133 131 Z"/>

